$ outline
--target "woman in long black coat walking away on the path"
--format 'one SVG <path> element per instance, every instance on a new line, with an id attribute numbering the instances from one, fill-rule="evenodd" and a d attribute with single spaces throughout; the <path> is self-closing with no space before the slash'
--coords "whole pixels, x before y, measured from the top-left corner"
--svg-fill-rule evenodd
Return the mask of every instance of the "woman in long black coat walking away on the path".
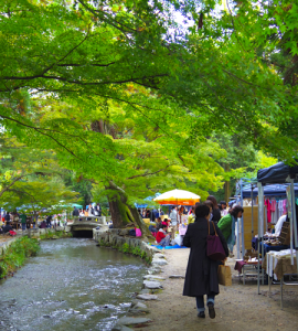
<path id="1" fill-rule="evenodd" d="M 205 318 L 204 295 L 206 295 L 209 316 L 214 319 L 214 299 L 220 292 L 217 278 L 219 263 L 206 256 L 206 237 L 209 231 L 211 235 L 214 235 L 214 228 L 216 229 L 226 256 L 228 256 L 228 249 L 221 231 L 214 222 L 209 221 L 209 217 L 210 207 L 204 204 L 198 205 L 195 209 L 195 222 L 188 226 L 183 239 L 183 245 L 191 247 L 183 296 L 195 297 L 198 317 Z"/>

